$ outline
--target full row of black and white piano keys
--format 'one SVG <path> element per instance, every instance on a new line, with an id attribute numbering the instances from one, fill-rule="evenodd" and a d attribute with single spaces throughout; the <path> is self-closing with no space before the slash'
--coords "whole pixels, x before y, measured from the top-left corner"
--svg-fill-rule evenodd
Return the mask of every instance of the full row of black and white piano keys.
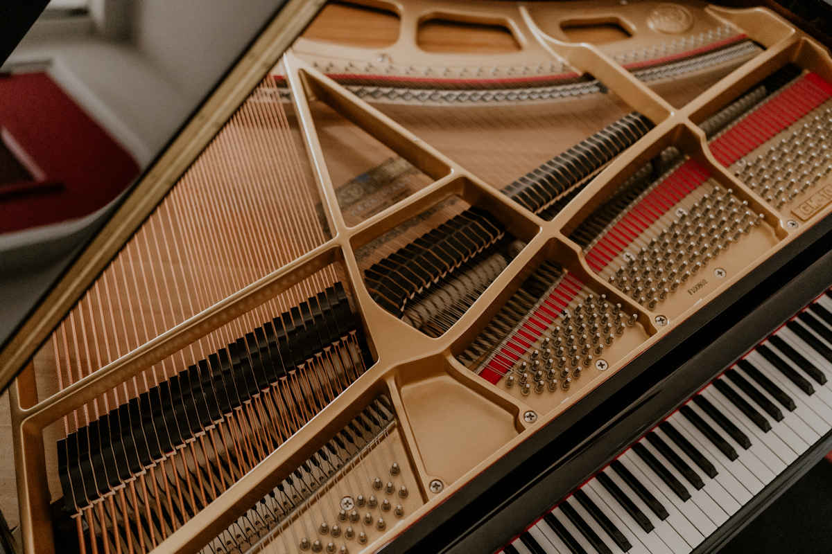
<path id="1" fill-rule="evenodd" d="M 827 291 L 498 552 L 694 552 L 829 434 L 830 376 Z"/>

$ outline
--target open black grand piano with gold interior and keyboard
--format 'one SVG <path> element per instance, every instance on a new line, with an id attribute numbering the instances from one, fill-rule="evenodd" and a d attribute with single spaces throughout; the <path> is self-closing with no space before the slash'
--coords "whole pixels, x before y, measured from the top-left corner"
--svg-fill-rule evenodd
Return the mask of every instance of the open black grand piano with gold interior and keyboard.
<path id="1" fill-rule="evenodd" d="M 0 350 L 22 552 L 718 550 L 832 450 L 824 29 L 285 2 Z"/>

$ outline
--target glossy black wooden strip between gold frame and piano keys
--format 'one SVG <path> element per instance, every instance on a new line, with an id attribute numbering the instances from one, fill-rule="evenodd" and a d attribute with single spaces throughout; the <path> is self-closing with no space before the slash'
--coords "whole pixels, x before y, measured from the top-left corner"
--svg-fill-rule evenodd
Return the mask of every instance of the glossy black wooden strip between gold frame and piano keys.
<path id="1" fill-rule="evenodd" d="M 677 327 L 669 340 L 657 345 L 666 346 L 661 352 L 653 348 L 631 362 L 381 553 L 498 550 L 551 508 L 553 499 L 559 500 L 580 486 L 656 421 L 830 287 L 830 242 L 832 218 L 826 218 L 726 292 L 724 311 L 720 313 L 716 306 L 703 308 Z M 760 297 L 765 300 L 760 302 Z M 699 346 L 703 344 L 708 346 L 702 349 Z M 668 360 L 674 361 L 668 364 Z M 832 434 L 827 434 L 775 478 L 765 494 L 742 507 L 731 522 L 748 521 L 774 502 L 830 447 Z M 740 528 L 721 527 L 695 552 L 712 552 Z"/>

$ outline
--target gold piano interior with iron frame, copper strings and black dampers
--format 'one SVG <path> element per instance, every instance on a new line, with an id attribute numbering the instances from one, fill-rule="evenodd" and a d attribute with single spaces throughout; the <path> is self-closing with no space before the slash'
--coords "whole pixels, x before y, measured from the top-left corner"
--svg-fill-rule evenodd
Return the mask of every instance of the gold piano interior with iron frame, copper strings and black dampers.
<path id="1" fill-rule="evenodd" d="M 832 211 L 766 9 L 329 2 L 258 78 L 16 353 L 26 552 L 394 549 Z"/>

